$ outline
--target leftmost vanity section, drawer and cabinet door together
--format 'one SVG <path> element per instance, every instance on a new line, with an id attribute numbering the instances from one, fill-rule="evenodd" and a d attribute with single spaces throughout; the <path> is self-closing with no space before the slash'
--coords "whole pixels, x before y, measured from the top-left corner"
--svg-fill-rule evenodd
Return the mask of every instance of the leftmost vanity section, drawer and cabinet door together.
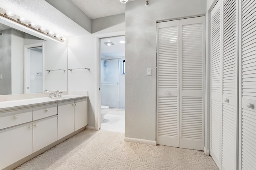
<path id="1" fill-rule="evenodd" d="M 0 112 L 0 169 L 33 153 L 32 108 Z"/>

